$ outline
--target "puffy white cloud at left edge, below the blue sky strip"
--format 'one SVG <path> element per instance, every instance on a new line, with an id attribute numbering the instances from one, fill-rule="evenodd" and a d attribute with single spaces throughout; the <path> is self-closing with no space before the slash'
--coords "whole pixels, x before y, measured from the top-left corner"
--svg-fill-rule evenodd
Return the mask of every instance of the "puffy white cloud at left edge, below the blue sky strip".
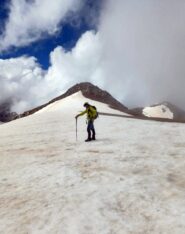
<path id="1" fill-rule="evenodd" d="M 46 100 L 45 74 L 34 57 L 0 60 L 0 71 L 0 103 L 12 103 L 12 111 L 22 112 Z"/>

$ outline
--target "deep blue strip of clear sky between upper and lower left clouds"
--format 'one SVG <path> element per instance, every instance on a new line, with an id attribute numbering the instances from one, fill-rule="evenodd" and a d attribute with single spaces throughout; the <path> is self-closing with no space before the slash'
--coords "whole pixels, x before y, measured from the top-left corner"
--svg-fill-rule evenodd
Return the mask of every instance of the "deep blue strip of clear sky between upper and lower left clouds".
<path id="1" fill-rule="evenodd" d="M 80 36 L 91 28 L 93 27 L 90 27 L 86 23 L 82 23 L 78 27 L 66 23 L 62 25 L 62 30 L 60 33 L 57 33 L 57 35 L 44 37 L 25 47 L 11 48 L 3 52 L 0 58 L 8 59 L 22 55 L 34 56 L 41 64 L 42 68 L 47 69 L 49 67 L 49 54 L 56 46 L 61 45 L 66 50 L 71 50 Z"/>

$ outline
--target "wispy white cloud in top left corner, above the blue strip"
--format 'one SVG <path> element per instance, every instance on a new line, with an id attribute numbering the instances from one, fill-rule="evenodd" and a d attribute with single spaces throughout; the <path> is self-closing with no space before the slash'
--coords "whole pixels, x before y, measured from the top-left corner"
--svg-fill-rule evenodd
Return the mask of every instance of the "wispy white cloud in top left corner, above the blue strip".
<path id="1" fill-rule="evenodd" d="M 12 0 L 0 50 L 29 45 L 44 35 L 54 35 L 69 14 L 81 7 L 81 0 Z"/>

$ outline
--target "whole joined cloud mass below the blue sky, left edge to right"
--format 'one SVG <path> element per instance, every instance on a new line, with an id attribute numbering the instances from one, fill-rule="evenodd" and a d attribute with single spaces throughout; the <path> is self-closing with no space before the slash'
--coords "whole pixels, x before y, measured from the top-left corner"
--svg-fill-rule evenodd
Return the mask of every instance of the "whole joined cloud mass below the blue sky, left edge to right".
<path id="1" fill-rule="evenodd" d="M 71 51 L 56 47 L 47 71 L 33 57 L 0 60 L 0 102 L 13 98 L 19 112 L 89 81 L 129 107 L 169 101 L 185 109 L 184 12 L 183 0 L 107 0 L 98 32 Z"/>

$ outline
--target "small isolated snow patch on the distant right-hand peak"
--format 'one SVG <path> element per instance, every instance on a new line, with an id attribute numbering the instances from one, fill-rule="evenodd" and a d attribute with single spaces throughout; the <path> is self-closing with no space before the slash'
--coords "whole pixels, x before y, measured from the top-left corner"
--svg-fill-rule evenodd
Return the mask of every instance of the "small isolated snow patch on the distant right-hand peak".
<path id="1" fill-rule="evenodd" d="M 145 107 L 143 114 L 147 117 L 173 119 L 173 113 L 165 105 Z"/>

